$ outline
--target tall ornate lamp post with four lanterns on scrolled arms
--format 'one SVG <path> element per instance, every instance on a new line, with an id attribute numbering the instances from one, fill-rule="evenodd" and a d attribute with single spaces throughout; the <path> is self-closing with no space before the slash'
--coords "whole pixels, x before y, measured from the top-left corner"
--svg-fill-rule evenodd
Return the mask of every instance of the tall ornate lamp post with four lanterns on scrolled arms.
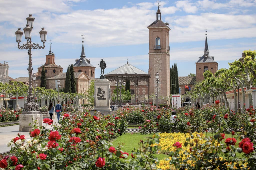
<path id="1" fill-rule="evenodd" d="M 27 96 L 27 102 L 24 105 L 24 111 L 36 111 L 38 109 L 38 104 L 35 102 L 35 98 L 33 98 L 32 91 L 32 53 L 31 50 L 33 49 L 44 49 L 45 48 L 45 42 L 46 42 L 46 36 L 47 36 L 47 31 L 45 28 L 42 28 L 42 30 L 39 32 L 41 41 L 43 42 L 43 46 L 40 46 L 39 44 L 32 44 L 31 41 L 31 32 L 33 29 L 33 24 L 34 24 L 35 18 L 32 17 L 32 14 L 29 14 L 29 17 L 27 18 L 27 24 L 26 27 L 23 29 L 25 33 L 25 38 L 27 40 L 26 44 L 23 44 L 20 46 L 20 42 L 22 41 L 22 35 L 23 31 L 21 31 L 20 28 L 15 32 L 16 34 L 16 41 L 18 42 L 18 48 L 19 49 L 28 49 L 28 55 L 29 55 L 29 66 L 28 66 L 28 73 L 29 73 L 29 92 Z"/>

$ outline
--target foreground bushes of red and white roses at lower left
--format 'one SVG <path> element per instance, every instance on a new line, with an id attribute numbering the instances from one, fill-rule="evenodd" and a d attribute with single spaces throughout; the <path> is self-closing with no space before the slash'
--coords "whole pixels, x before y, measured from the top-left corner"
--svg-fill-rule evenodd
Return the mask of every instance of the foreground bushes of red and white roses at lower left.
<path id="1" fill-rule="evenodd" d="M 7 169 L 155 169 L 153 153 L 158 139 L 141 141 L 134 152 L 112 146 L 110 140 L 122 135 L 124 115 L 97 117 L 89 113 L 62 115 L 60 125 L 44 119 L 51 129 L 33 126 L 30 136 L 19 135 L 8 142 L 15 156 L 0 160 Z M 47 125 L 47 126 L 48 126 Z M 127 160 L 131 155 L 132 159 Z"/>

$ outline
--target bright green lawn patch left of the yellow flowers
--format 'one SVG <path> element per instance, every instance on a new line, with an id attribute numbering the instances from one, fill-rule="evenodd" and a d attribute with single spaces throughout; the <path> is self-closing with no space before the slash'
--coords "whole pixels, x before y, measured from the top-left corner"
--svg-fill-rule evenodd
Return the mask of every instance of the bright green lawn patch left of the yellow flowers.
<path id="1" fill-rule="evenodd" d="M 129 153 L 128 159 L 130 159 L 132 158 L 131 157 L 132 151 L 137 151 L 140 140 L 146 141 L 148 138 L 152 136 L 153 136 L 152 134 L 141 135 L 139 133 L 134 133 L 134 134 L 126 133 L 126 134 L 123 134 L 122 136 L 119 136 L 115 140 L 113 140 L 112 143 L 114 147 L 117 147 L 118 143 L 120 144 L 124 143 L 123 145 L 124 147 L 122 148 L 122 150 Z M 169 157 L 168 155 L 165 155 L 165 154 L 154 154 L 154 156 L 156 156 L 158 160 L 163 160 Z"/>

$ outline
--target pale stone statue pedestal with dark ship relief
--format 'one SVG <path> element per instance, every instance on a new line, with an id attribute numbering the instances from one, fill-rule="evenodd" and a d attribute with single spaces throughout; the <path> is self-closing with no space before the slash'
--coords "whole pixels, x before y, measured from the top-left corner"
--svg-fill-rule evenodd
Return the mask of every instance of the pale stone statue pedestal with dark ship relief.
<path id="1" fill-rule="evenodd" d="M 111 114 L 110 108 L 110 81 L 99 79 L 94 82 L 94 110 L 104 115 Z"/>

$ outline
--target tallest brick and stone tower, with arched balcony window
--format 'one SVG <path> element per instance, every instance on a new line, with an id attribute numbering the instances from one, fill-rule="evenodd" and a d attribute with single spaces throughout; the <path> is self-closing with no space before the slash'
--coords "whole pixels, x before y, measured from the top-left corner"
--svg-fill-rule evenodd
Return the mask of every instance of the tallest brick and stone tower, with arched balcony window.
<path id="1" fill-rule="evenodd" d="M 170 46 L 168 23 L 162 21 L 161 12 L 158 6 L 156 20 L 150 24 L 149 29 L 149 79 L 150 95 L 157 93 L 156 73 L 159 73 L 160 83 L 158 84 L 158 96 L 170 95 Z M 163 100 L 159 100 L 163 101 Z M 161 103 L 161 102 L 159 102 Z M 164 100 L 163 104 L 169 104 Z"/>

